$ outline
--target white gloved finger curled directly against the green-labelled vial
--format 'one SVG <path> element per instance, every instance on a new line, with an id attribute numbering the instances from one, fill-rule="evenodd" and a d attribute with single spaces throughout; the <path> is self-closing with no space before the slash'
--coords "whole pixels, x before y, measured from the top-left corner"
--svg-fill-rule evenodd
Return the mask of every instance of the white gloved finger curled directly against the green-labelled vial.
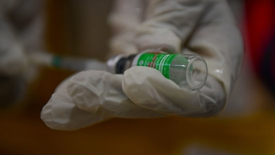
<path id="1" fill-rule="evenodd" d="M 126 70 L 122 88 L 135 104 L 162 113 L 186 114 L 198 111 L 202 106 L 198 91 L 180 88 L 149 67 Z"/>

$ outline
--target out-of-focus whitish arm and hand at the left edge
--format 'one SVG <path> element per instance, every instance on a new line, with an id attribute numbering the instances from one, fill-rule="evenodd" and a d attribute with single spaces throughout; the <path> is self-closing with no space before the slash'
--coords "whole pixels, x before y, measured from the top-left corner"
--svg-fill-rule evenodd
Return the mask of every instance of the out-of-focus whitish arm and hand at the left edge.
<path id="1" fill-rule="evenodd" d="M 41 45 L 42 2 L 0 0 L 0 107 L 22 99 L 32 79 L 26 54 Z"/>

